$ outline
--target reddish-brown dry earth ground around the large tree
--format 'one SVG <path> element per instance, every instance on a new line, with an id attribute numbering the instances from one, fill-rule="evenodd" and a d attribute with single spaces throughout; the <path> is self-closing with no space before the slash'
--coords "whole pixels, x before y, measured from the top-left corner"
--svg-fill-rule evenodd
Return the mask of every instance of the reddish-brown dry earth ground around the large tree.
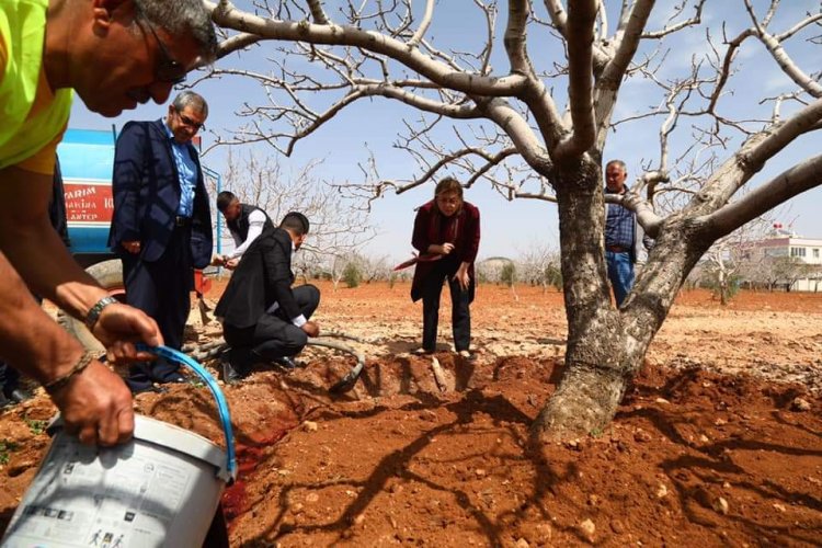
<path id="1" fill-rule="evenodd" d="M 408 284 L 319 285 L 317 320 L 357 338 L 342 342 L 365 373 L 331 397 L 354 359 L 309 347 L 302 369 L 225 387 L 241 461 L 222 499 L 231 546 L 819 546 L 822 295 L 743 293 L 722 308 L 684 292 L 613 424 L 534 452 L 528 427 L 562 372 L 559 294 L 479 287 L 476 362 L 448 345 L 446 294 L 436 378 L 411 353 Z M 197 316 L 198 342 L 218 338 Z M 136 406 L 220 443 L 204 388 Z M 52 413 L 42 390 L 0 413 L 14 447 L 0 529 L 48 445 L 32 425 Z"/>

